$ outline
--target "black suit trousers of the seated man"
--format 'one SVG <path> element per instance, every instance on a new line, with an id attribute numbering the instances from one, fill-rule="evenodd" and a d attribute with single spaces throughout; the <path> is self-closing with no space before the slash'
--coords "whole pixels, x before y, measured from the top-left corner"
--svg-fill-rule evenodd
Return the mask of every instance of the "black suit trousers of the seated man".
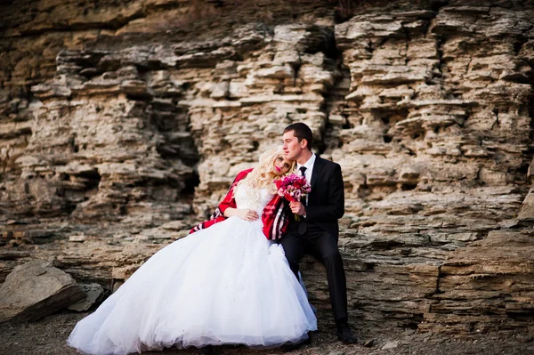
<path id="1" fill-rule="evenodd" d="M 304 232 L 302 226 L 299 226 L 302 223 L 305 223 Z M 324 265 L 327 270 L 328 292 L 334 319 L 337 324 L 347 322 L 347 286 L 337 238 L 313 222 L 300 222 L 290 226 L 280 244 L 284 247 L 287 262 L 295 277 L 303 254 L 311 254 Z"/>

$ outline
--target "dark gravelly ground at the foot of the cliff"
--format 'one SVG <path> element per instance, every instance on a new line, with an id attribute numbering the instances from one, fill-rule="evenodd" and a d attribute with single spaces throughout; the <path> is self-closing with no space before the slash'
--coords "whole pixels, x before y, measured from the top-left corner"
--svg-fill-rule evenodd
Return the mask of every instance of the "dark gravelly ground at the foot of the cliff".
<path id="1" fill-rule="evenodd" d="M 2 355 L 69 355 L 77 354 L 69 348 L 66 339 L 79 319 L 89 313 L 61 312 L 35 323 L 0 326 L 0 354 Z M 531 335 L 471 335 L 445 336 L 418 333 L 412 330 L 391 331 L 386 334 L 368 330 L 354 330 L 360 339 L 356 345 L 344 345 L 336 341 L 334 328 L 323 326 L 312 334 L 312 344 L 290 354 L 348 355 L 348 354 L 534 354 L 534 336 Z M 364 346 L 367 343 L 367 346 Z M 239 346 L 223 346 L 214 349 L 216 354 L 282 354 L 279 349 L 256 350 Z M 143 354 L 190 355 L 197 349 L 166 349 L 147 351 Z"/>

